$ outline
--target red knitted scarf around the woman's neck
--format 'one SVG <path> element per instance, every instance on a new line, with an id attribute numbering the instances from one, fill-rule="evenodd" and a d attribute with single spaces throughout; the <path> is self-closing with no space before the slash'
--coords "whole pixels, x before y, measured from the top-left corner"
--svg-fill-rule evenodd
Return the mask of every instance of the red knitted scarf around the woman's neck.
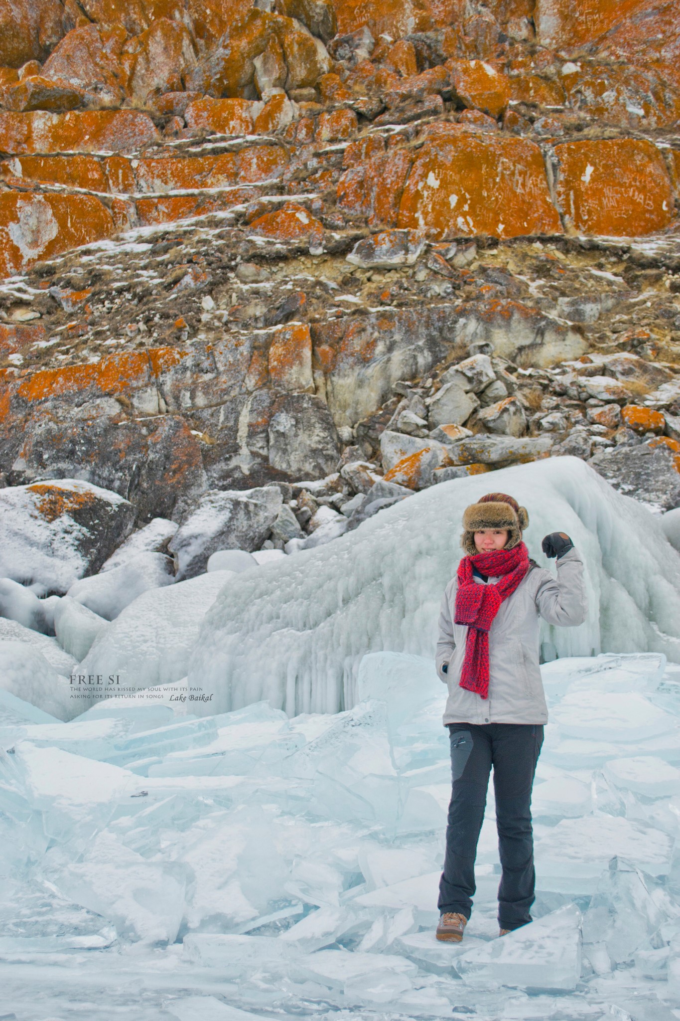
<path id="1" fill-rule="evenodd" d="M 495 585 L 476 582 L 472 569 L 486 577 L 501 575 Z M 512 595 L 529 570 L 529 554 L 523 542 L 513 549 L 464 556 L 458 566 L 456 623 L 468 625 L 465 660 L 459 684 L 488 698 L 488 629 L 501 603 Z"/>

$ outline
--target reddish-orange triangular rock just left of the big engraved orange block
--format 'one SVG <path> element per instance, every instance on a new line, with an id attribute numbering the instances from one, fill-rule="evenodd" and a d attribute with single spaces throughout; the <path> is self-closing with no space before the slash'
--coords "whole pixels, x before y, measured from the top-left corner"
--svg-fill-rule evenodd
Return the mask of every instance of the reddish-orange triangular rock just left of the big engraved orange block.
<path id="1" fill-rule="evenodd" d="M 368 144 L 366 151 L 372 151 Z M 390 149 L 349 166 L 337 182 L 337 205 L 347 212 L 366 216 L 370 227 L 397 227 L 413 158 L 410 150 Z"/>

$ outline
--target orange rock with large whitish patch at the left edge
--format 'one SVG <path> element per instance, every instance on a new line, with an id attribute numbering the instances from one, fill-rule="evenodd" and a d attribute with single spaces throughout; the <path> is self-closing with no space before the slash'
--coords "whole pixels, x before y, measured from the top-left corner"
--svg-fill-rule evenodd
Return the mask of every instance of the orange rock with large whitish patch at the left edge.
<path id="1" fill-rule="evenodd" d="M 92 195 L 0 193 L 0 277 L 107 238 L 111 213 Z"/>

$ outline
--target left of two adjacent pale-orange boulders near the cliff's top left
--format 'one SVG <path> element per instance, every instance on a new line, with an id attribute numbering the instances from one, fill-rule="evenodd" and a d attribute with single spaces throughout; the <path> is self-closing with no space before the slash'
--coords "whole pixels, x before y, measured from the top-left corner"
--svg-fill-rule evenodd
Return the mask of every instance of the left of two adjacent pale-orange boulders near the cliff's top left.
<path id="1" fill-rule="evenodd" d="M 96 25 L 72 29 L 55 47 L 42 74 L 89 93 L 97 106 L 118 106 L 125 97 L 120 52 L 125 32 Z"/>

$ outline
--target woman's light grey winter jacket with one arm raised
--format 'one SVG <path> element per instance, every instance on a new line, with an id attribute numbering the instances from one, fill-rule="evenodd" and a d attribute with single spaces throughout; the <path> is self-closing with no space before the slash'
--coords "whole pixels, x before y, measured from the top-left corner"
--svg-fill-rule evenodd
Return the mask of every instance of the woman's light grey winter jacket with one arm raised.
<path id="1" fill-rule="evenodd" d="M 574 627 L 587 614 L 581 557 L 572 548 L 558 558 L 557 567 L 556 578 L 532 564 L 513 594 L 501 603 L 488 633 L 488 698 L 459 684 L 468 629 L 465 624 L 454 624 L 458 578 L 449 582 L 436 645 L 436 671 L 449 686 L 444 725 L 547 723 L 538 666 L 538 617 L 548 624 Z M 449 664 L 446 674 L 444 664 Z"/>

